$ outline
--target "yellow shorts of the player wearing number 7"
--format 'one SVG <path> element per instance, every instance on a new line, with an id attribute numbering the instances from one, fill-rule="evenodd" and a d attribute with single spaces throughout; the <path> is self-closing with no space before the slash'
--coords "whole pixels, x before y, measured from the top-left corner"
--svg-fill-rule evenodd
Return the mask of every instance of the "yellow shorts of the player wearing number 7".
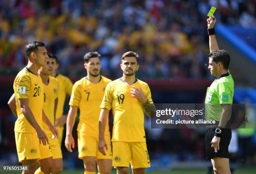
<path id="1" fill-rule="evenodd" d="M 105 156 L 98 151 L 99 138 L 97 135 L 89 135 L 84 132 L 77 131 L 77 136 L 79 159 L 83 159 L 85 156 L 95 156 L 96 159 L 112 159 L 110 135 L 105 135 L 105 140 L 108 144 L 108 151 Z"/>

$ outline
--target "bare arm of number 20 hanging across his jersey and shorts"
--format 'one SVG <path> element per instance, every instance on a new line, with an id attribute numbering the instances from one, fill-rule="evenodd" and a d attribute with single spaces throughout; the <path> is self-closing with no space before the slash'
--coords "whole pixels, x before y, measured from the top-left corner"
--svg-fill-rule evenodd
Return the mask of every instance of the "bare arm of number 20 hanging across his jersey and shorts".
<path id="1" fill-rule="evenodd" d="M 36 129 L 36 134 L 39 139 L 39 143 L 43 143 L 44 145 L 49 144 L 48 138 L 44 131 L 41 129 L 41 127 L 36 122 L 35 117 L 33 116 L 33 113 L 31 109 L 28 106 L 28 98 L 21 98 L 18 99 L 19 105 L 20 105 L 20 111 L 23 113 L 25 118 L 28 120 L 29 124 Z"/>

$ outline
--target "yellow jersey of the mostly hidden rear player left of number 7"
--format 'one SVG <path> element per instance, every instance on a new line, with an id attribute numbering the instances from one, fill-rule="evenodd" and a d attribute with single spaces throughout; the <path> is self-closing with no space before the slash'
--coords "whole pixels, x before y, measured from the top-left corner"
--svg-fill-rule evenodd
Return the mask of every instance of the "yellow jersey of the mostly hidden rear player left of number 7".
<path id="1" fill-rule="evenodd" d="M 61 74 L 57 74 L 55 78 L 59 81 L 58 106 L 56 111 L 56 119 L 59 119 L 63 114 L 66 95 L 71 96 L 73 83 L 68 77 Z"/>

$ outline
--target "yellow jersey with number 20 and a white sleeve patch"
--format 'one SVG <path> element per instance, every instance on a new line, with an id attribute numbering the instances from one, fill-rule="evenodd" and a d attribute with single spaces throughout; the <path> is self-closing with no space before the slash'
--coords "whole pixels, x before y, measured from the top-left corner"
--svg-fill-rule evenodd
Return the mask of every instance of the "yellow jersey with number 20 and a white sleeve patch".
<path id="1" fill-rule="evenodd" d="M 42 128 L 44 85 L 41 77 L 38 74 L 33 74 L 32 71 L 25 67 L 16 76 L 13 83 L 13 89 L 18 114 L 18 119 L 15 121 L 14 131 L 20 133 L 36 133 L 36 130 L 20 111 L 18 99 L 28 98 L 28 106 L 35 117 L 36 122 Z"/>

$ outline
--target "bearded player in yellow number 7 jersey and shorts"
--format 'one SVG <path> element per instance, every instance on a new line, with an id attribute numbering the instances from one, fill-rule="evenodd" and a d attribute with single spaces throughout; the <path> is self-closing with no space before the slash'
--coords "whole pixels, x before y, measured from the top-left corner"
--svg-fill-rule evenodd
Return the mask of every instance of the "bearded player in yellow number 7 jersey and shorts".
<path id="1" fill-rule="evenodd" d="M 99 134 L 99 116 L 100 103 L 104 96 L 107 84 L 111 81 L 108 78 L 100 76 L 100 54 L 90 52 L 84 55 L 84 68 L 87 70 L 87 76 L 77 81 L 72 89 L 72 96 L 69 101 L 70 109 L 67 118 L 67 132 L 65 146 L 72 152 L 74 148 L 74 139 L 72 129 L 74 126 L 77 109 L 80 110 L 78 134 L 78 152 L 79 159 L 84 161 L 84 174 L 95 174 L 97 166 L 100 174 L 111 173 L 112 150 L 102 155 L 98 149 Z M 106 121 L 106 124 L 108 121 Z M 108 124 L 107 124 L 108 125 Z M 110 132 L 108 126 L 102 133 L 106 143 L 111 147 Z"/>

